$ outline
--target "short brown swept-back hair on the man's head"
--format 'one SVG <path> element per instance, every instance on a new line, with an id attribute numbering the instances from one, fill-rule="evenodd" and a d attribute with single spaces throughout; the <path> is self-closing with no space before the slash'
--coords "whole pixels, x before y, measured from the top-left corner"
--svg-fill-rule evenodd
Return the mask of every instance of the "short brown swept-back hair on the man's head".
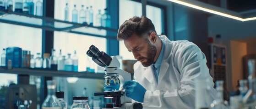
<path id="1" fill-rule="evenodd" d="M 142 37 L 146 33 L 156 32 L 152 21 L 145 16 L 134 16 L 120 26 L 117 40 L 127 40 L 133 33 Z"/>

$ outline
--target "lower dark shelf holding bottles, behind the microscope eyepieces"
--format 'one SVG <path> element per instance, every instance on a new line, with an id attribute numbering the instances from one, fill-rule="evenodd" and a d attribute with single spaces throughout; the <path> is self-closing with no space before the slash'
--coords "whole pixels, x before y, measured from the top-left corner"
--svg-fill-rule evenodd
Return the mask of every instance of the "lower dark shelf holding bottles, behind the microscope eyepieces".
<path id="1" fill-rule="evenodd" d="M 78 77 L 88 79 L 104 79 L 103 73 L 89 73 L 89 72 L 71 72 L 71 71 L 57 71 L 51 69 L 31 69 L 31 68 L 12 68 L 0 67 L 0 73 L 6 74 L 28 74 L 49 77 Z"/>

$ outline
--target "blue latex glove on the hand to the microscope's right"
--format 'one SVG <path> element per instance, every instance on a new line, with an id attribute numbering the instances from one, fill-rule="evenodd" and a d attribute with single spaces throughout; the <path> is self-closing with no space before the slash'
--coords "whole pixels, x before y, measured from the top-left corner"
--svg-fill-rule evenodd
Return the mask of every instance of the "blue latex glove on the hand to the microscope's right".
<path id="1" fill-rule="evenodd" d="M 125 81 L 123 88 L 125 88 L 125 93 L 127 97 L 143 103 L 144 94 L 147 90 L 141 84 L 132 80 L 128 80 Z"/>

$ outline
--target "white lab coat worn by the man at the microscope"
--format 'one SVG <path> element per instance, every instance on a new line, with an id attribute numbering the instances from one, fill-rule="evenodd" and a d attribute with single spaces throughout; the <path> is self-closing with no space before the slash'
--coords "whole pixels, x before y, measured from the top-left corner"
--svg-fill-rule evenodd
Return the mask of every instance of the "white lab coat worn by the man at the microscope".
<path id="1" fill-rule="evenodd" d="M 202 51 L 187 40 L 170 41 L 159 36 L 164 44 L 163 60 L 156 82 L 152 66 L 144 67 L 141 62 L 134 64 L 134 79 L 147 89 L 144 95 L 144 109 L 194 109 L 195 82 L 193 79 L 206 73 L 212 81 Z M 206 103 L 211 104 L 216 90 L 211 82 Z"/>

